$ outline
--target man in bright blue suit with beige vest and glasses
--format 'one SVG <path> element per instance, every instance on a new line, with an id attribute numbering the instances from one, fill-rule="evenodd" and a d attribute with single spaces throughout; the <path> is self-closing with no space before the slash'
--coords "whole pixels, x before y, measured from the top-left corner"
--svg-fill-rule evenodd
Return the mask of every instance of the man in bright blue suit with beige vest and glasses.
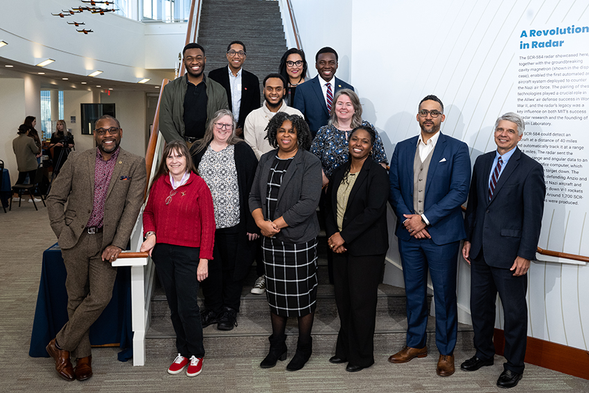
<path id="1" fill-rule="evenodd" d="M 471 159 L 466 143 L 442 134 L 446 119 L 437 96 L 426 96 L 416 116 L 421 134 L 397 143 L 389 171 L 389 202 L 397 216 L 405 292 L 407 343 L 389 357 L 406 363 L 428 356 L 428 270 L 434 287 L 436 373 L 454 374 L 458 329 L 456 271 L 460 241 L 466 237 L 461 204 L 466 202 Z"/>

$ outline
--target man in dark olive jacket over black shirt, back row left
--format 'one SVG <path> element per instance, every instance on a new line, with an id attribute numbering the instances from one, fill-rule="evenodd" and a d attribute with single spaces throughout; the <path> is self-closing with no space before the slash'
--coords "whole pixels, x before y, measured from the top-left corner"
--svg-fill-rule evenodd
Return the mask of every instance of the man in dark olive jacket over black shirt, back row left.
<path id="1" fill-rule="evenodd" d="M 227 109 L 225 88 L 204 76 L 204 48 L 195 42 L 184 46 L 186 74 L 164 87 L 159 108 L 159 130 L 166 142 L 186 141 L 188 148 L 204 137 L 215 112 Z"/>

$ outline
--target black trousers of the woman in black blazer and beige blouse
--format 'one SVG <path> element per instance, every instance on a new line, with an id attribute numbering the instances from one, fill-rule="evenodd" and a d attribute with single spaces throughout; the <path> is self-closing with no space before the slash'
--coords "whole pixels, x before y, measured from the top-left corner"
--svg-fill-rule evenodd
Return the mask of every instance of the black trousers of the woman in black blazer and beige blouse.
<path id="1" fill-rule="evenodd" d="M 384 262 L 385 254 L 333 254 L 335 304 L 340 314 L 335 356 L 355 366 L 374 363 L 376 302 Z"/>

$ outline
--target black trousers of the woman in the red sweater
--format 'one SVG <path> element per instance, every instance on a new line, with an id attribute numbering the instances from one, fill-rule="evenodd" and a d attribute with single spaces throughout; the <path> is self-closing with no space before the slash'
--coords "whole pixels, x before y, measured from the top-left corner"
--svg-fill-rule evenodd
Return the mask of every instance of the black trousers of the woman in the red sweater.
<path id="1" fill-rule="evenodd" d="M 176 348 L 185 358 L 204 356 L 202 324 L 198 308 L 198 268 L 200 248 L 157 243 L 152 252 L 157 276 L 166 291 Z M 210 263 L 209 263 L 210 265 Z"/>

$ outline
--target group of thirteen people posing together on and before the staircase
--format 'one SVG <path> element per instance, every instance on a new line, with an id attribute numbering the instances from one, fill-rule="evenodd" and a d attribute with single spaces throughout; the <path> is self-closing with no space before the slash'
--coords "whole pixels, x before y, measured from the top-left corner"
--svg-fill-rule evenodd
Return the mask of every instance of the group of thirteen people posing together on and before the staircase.
<path id="1" fill-rule="evenodd" d="M 318 207 L 333 258 L 330 275 L 340 315 L 335 354 L 329 361 L 346 363 L 349 372 L 370 367 L 378 283 L 389 247 L 388 201 L 397 217 L 395 234 L 407 292 L 407 342 L 389 361 L 405 363 L 428 355 L 429 272 L 440 353 L 437 374 L 455 372 L 456 274 L 464 241 L 462 255 L 472 265 L 477 352 L 461 369 L 474 371 L 493 364 L 499 292 L 507 363 L 498 385 L 518 383 L 527 332 L 525 273 L 535 256 L 545 193 L 542 167 L 517 148 L 525 128 L 518 114 L 509 112 L 498 119 L 494 133 L 498 148 L 477 159 L 471 182 L 466 143 L 439 132 L 445 119 L 443 103 L 426 96 L 416 114 L 421 132 L 396 144 L 387 173 L 378 132 L 362 120 L 353 87 L 335 78 L 333 49 L 319 50 L 315 57 L 319 75 L 310 80 L 306 80 L 304 53 L 287 51 L 281 72 L 263 80 L 261 107 L 259 90 L 256 107 L 252 104 L 256 89 L 245 88 L 258 83 L 241 68 L 245 44 L 231 42 L 228 67 L 211 71 L 209 78 L 204 76 L 202 46 L 188 44 L 183 55 L 186 76 L 166 85 L 162 98 L 161 133 L 167 145 L 149 186 L 141 245 L 141 251 L 152 256 L 170 306 L 178 352 L 168 368 L 170 374 L 184 368 L 188 376 L 200 374 L 203 328 L 238 326 L 243 279 L 254 258 L 263 266 L 258 281 L 267 295 L 272 324 L 270 349 L 260 366 L 274 367 L 285 360 L 286 322 L 297 317 L 297 348 L 286 369 L 304 367 L 313 353 Z M 58 373 L 69 381 L 91 376 L 87 329 L 109 299 L 95 299 L 92 286 L 100 284 L 100 293 L 112 289 L 112 268 L 105 262 L 114 261 L 121 252 L 130 234 L 127 227 L 141 204 L 137 196 L 137 188 L 145 185 L 145 173 L 138 168 L 141 159 L 118 148 L 121 135 L 116 119 L 99 119 L 94 130 L 98 148 L 68 159 L 62 168 L 67 175 L 58 177 L 48 200 L 68 277 L 79 274 L 74 259 L 84 259 L 86 269 L 88 264 L 100 265 L 97 272 L 91 268 L 75 283 L 68 278 L 70 320 L 48 346 Z M 90 156 L 96 166 L 94 176 L 82 177 L 94 179 L 88 187 L 87 181 L 73 178 L 73 172 L 88 171 L 88 166 L 78 168 L 73 161 Z M 73 202 L 92 189 L 91 210 Z M 114 214 L 113 209 L 105 209 L 109 198 L 120 204 L 118 217 L 113 218 L 120 221 L 118 225 L 107 220 L 107 214 Z M 461 205 L 467 198 L 464 218 Z M 93 279 L 94 274 L 100 279 Z M 199 286 L 202 310 L 197 304 Z M 94 305 L 91 310 L 89 304 Z M 80 326 L 74 328 L 75 324 Z M 74 330 L 80 333 L 73 335 Z M 78 358 L 75 368 L 71 356 Z"/>

